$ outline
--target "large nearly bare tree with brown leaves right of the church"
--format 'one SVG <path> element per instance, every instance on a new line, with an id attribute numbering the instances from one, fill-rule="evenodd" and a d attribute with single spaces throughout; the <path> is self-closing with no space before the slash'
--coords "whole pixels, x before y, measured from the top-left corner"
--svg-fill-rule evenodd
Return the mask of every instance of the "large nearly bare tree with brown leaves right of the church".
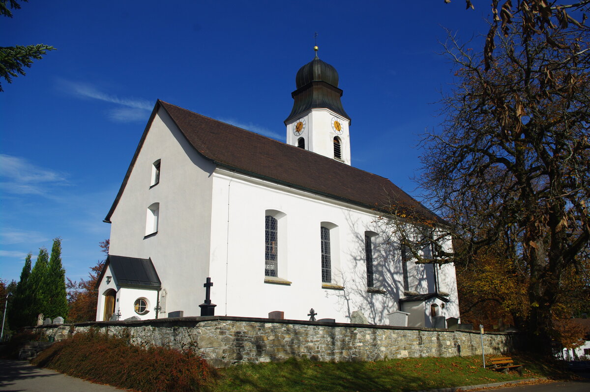
<path id="1" fill-rule="evenodd" d="M 457 83 L 419 183 L 460 241 L 454 260 L 493 246 L 529 276 L 528 330 L 548 348 L 563 273 L 590 239 L 590 1 L 492 6 L 483 51 L 444 44 Z"/>

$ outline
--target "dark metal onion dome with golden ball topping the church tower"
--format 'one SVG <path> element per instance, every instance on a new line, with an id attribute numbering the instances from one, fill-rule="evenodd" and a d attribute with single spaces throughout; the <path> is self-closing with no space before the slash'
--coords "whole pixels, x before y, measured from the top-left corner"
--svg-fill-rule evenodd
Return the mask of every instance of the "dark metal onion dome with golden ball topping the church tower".
<path id="1" fill-rule="evenodd" d="M 289 124 L 314 108 L 330 109 L 350 121 L 340 102 L 342 90 L 338 88 L 336 68 L 317 57 L 317 47 L 314 50 L 316 57 L 297 71 L 297 90 L 291 93 L 294 100 L 293 109 L 284 123 Z"/>

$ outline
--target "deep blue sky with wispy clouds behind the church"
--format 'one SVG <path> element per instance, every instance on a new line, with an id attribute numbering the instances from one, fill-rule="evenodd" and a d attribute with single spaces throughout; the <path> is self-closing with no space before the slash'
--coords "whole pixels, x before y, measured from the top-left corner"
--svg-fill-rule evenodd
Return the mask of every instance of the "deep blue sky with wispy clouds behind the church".
<path id="1" fill-rule="evenodd" d="M 109 211 L 160 98 L 284 141 L 295 74 L 336 67 L 353 166 L 419 196 L 415 149 L 441 121 L 449 28 L 481 48 L 489 1 L 34 1 L 0 19 L 0 46 L 49 52 L 0 93 L 0 279 L 63 239 L 68 277 L 103 258 Z"/>

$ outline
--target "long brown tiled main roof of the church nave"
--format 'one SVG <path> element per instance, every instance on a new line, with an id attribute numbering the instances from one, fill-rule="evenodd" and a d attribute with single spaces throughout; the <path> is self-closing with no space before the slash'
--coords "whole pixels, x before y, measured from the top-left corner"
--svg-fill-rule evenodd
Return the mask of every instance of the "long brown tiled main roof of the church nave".
<path id="1" fill-rule="evenodd" d="M 166 110 L 195 150 L 218 166 L 363 207 L 386 210 L 386 206 L 395 203 L 398 211 L 444 223 L 384 177 L 160 100 L 156 103 L 105 222 L 110 222 L 160 107 Z"/>

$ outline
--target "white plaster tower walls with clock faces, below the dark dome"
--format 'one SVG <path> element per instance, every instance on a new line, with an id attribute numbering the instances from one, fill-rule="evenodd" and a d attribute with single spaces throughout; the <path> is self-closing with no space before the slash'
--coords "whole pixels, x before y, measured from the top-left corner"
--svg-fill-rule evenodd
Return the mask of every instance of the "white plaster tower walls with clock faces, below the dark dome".
<path id="1" fill-rule="evenodd" d="M 336 117 L 342 124 L 342 134 L 338 135 L 332 129 L 332 118 Z M 300 136 L 293 134 L 293 123 L 297 123 L 299 118 L 304 118 L 306 121 L 306 129 Z M 334 137 L 338 136 L 342 141 L 342 160 L 346 164 L 350 164 L 350 122 L 342 116 L 334 113 L 328 109 L 312 109 L 305 116 L 301 116 L 287 124 L 287 144 L 297 146 L 297 139 L 305 138 L 306 150 L 314 153 L 334 158 Z"/>

